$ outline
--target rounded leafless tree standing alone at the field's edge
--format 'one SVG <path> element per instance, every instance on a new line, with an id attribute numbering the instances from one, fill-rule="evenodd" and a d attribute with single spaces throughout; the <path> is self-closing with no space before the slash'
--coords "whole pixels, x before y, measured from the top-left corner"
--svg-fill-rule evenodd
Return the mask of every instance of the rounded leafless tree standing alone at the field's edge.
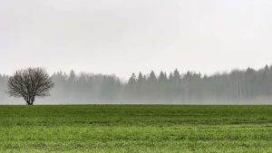
<path id="1" fill-rule="evenodd" d="M 27 105 L 33 105 L 35 97 L 49 96 L 53 81 L 42 68 L 18 70 L 9 78 L 7 93 L 13 97 L 23 97 Z"/>

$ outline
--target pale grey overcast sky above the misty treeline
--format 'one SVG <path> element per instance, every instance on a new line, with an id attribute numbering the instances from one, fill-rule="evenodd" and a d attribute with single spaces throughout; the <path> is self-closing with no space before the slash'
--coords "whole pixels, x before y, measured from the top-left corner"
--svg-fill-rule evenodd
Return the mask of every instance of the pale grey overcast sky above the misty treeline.
<path id="1" fill-rule="evenodd" d="M 213 73 L 272 63 L 271 0 L 0 0 L 0 72 Z"/>

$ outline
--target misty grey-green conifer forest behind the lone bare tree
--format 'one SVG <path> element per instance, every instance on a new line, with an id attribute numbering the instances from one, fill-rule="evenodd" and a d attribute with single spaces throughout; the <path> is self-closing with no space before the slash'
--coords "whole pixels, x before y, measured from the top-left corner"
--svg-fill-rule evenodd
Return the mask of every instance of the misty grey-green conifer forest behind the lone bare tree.
<path id="1" fill-rule="evenodd" d="M 73 71 L 52 76 L 52 96 L 41 103 L 161 103 L 161 104 L 243 104 L 272 103 L 272 66 L 260 70 L 202 75 L 178 70 L 156 74 L 132 73 L 128 81 L 114 75 L 76 75 Z M 0 104 L 9 104 L 5 94 L 8 76 L 0 75 Z M 23 104 L 24 101 L 21 100 Z"/>

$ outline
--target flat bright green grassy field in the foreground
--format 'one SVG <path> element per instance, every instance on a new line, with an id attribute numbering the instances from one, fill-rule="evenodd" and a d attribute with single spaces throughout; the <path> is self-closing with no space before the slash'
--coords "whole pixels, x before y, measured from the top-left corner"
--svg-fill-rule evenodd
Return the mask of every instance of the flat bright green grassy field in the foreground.
<path id="1" fill-rule="evenodd" d="M 0 106 L 0 152 L 272 152 L 272 106 Z"/>

